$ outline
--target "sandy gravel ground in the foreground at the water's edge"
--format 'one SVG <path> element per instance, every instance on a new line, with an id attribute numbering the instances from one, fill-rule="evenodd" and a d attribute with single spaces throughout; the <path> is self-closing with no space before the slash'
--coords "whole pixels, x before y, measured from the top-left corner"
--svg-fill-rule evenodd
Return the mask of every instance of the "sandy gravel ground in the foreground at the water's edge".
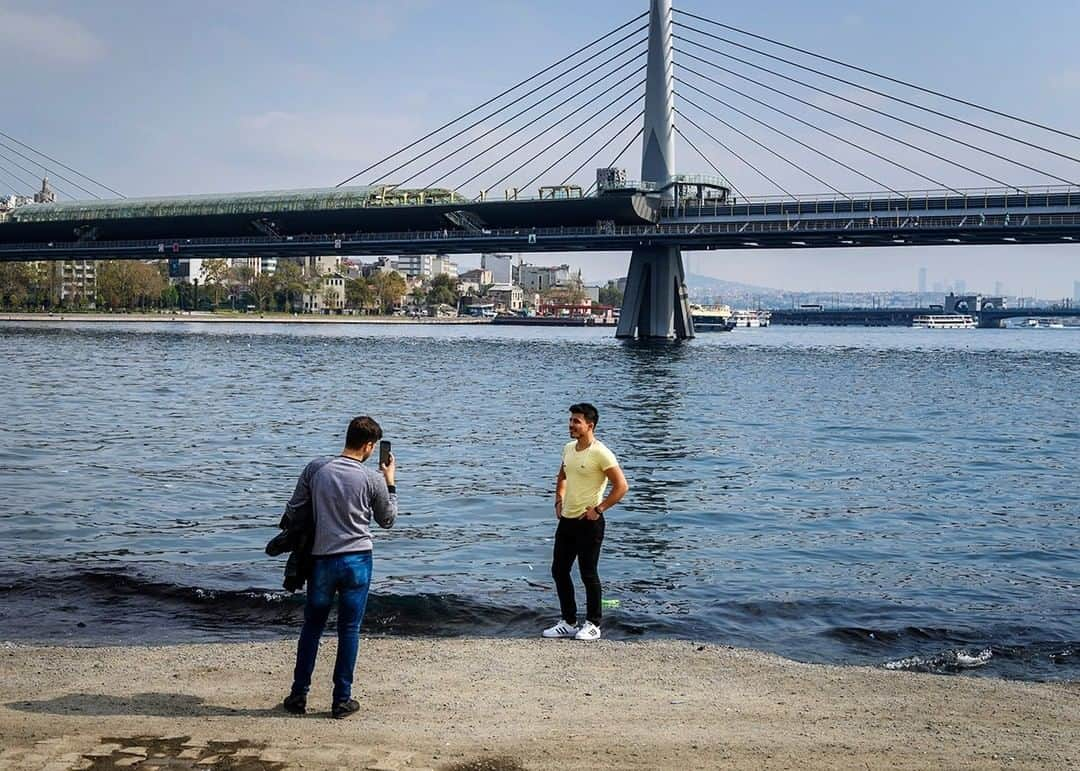
<path id="1" fill-rule="evenodd" d="M 1077 768 L 1080 685 L 684 641 L 365 639 L 360 714 L 279 706 L 291 641 L 0 647 L 3 769 Z"/>

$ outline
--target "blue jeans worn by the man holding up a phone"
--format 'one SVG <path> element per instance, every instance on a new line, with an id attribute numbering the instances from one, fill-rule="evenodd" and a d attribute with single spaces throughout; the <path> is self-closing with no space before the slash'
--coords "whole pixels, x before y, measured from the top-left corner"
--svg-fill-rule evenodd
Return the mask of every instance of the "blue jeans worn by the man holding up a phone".
<path id="1" fill-rule="evenodd" d="M 303 606 L 303 628 L 296 648 L 293 694 L 307 695 L 311 673 L 319 655 L 319 639 L 338 595 L 338 654 L 334 663 L 334 703 L 352 698 L 352 674 L 360 648 L 360 624 L 372 585 L 372 553 L 315 557 L 308 579 L 308 601 Z"/>

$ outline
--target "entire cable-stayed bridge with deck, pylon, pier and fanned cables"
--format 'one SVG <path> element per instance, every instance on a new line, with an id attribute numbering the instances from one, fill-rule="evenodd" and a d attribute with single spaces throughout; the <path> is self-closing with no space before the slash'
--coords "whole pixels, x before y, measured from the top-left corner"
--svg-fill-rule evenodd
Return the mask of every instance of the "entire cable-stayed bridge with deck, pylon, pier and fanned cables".
<path id="1" fill-rule="evenodd" d="M 335 188 L 117 198 L 0 132 L 0 185 L 68 199 L 0 213 L 0 259 L 629 251 L 620 336 L 688 337 L 681 249 L 1080 239 L 1075 143 L 651 0 Z"/>

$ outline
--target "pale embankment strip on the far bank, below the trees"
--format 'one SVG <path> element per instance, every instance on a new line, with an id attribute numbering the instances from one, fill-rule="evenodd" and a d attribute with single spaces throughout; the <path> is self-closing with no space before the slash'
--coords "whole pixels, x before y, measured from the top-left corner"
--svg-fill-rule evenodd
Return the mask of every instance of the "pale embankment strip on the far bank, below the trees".
<path id="1" fill-rule="evenodd" d="M 175 313 L 0 313 L 0 322 L 112 322 L 118 324 L 414 324 L 464 325 L 490 324 L 490 319 L 458 316 L 454 319 L 411 316 L 347 316 L 347 315 L 292 315 L 274 313 L 221 314 L 207 311 Z"/>

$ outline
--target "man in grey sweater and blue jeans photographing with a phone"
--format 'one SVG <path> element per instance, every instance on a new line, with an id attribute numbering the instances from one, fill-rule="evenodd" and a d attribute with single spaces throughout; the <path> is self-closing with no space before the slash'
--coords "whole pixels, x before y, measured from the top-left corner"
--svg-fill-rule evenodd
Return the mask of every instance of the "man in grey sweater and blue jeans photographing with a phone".
<path id="1" fill-rule="evenodd" d="M 293 689 L 285 709 L 302 715 L 308 707 L 311 673 L 319 654 L 326 619 L 338 597 L 338 651 L 334 664 L 334 717 L 349 717 L 360 704 L 352 698 L 352 677 L 360 647 L 360 625 L 372 583 L 372 520 L 392 527 L 397 518 L 394 458 L 373 471 L 363 463 L 382 438 L 382 429 L 370 418 L 353 418 L 346 433 L 345 449 L 334 458 L 308 463 L 285 504 L 285 517 L 300 516 L 308 505 L 314 518 L 315 538 L 303 628 L 296 650 Z"/>

